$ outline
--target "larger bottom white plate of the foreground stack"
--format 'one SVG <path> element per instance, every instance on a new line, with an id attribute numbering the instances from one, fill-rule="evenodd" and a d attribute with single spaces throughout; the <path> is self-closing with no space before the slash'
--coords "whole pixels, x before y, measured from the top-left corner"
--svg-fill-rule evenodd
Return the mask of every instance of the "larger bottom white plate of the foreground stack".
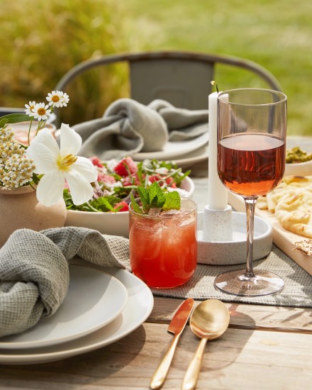
<path id="1" fill-rule="evenodd" d="M 55 362 L 111 344 L 138 328 L 150 315 L 154 304 L 152 292 L 138 277 L 124 269 L 103 268 L 116 277 L 128 291 L 128 301 L 111 323 L 82 338 L 49 347 L 0 350 L 1 364 L 38 364 Z"/>

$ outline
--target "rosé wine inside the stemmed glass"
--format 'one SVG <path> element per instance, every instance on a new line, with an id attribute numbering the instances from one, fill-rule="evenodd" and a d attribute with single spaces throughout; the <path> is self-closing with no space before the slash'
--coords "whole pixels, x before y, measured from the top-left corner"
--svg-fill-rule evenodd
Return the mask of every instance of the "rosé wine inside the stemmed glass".
<path id="1" fill-rule="evenodd" d="M 221 182 L 244 196 L 263 196 L 282 180 L 285 146 L 282 138 L 269 134 L 238 133 L 218 144 Z"/>

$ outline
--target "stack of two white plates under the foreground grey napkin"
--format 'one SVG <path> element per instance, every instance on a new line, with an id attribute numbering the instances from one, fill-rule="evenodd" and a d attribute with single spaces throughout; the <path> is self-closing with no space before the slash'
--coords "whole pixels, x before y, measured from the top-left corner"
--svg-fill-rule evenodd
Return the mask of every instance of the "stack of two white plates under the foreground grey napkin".
<path id="1" fill-rule="evenodd" d="M 124 269 L 82 262 L 69 273 L 69 290 L 54 315 L 0 339 L 0 364 L 53 362 L 96 350 L 131 333 L 152 311 L 152 292 Z"/>

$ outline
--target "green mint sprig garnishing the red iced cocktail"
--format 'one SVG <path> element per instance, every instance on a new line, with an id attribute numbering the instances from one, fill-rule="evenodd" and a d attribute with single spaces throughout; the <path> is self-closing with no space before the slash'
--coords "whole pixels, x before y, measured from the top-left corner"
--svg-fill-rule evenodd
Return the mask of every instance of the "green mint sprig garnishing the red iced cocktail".
<path id="1" fill-rule="evenodd" d="M 164 192 L 158 182 L 153 182 L 149 187 L 138 186 L 138 194 L 142 203 L 142 208 L 138 206 L 133 194 L 130 194 L 131 204 L 135 213 L 147 214 L 151 208 L 161 208 L 162 210 L 179 210 L 181 208 L 181 198 L 178 191 Z"/>

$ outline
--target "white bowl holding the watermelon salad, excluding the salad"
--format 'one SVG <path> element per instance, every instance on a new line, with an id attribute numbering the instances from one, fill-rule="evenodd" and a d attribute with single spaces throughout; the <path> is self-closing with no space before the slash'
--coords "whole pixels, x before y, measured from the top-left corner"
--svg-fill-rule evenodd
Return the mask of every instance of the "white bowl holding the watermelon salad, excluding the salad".
<path id="1" fill-rule="evenodd" d="M 194 194 L 194 182 L 186 177 L 180 186 L 187 196 L 191 198 Z M 91 211 L 67 210 L 65 226 L 82 226 L 99 230 L 102 234 L 129 236 L 129 212 L 119 213 L 92 213 Z"/>

